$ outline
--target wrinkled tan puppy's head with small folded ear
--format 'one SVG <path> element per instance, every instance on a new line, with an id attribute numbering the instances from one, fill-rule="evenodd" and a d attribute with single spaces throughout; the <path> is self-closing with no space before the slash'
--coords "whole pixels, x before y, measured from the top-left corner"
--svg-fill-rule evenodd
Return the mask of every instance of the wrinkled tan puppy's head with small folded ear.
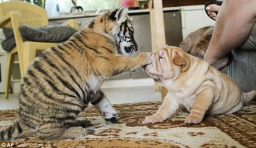
<path id="1" fill-rule="evenodd" d="M 164 46 L 157 53 L 152 53 L 150 59 L 152 63 L 144 66 L 144 71 L 158 82 L 175 79 L 189 67 L 189 57 L 175 46 Z"/>

